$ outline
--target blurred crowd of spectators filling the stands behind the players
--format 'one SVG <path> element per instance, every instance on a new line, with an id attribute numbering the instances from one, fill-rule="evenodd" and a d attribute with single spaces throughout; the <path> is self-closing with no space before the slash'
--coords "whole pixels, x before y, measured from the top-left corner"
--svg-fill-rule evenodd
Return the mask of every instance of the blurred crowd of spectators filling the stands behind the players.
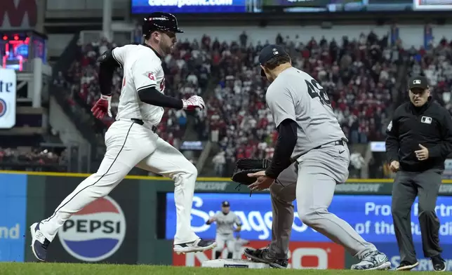
<path id="1" fill-rule="evenodd" d="M 258 54 L 273 41 L 248 43 L 246 34 L 237 41 L 218 41 L 205 35 L 200 41 L 182 41 L 174 53 L 163 60 L 166 72 L 165 93 L 176 98 L 201 95 L 206 111 L 197 112 L 196 125 L 200 140 L 210 138 L 220 151 L 213 159 L 218 175 L 229 173 L 232 163 L 240 158 L 271 158 L 277 140 L 272 116 L 265 105 L 265 90 L 270 84 L 260 76 Z M 452 109 L 452 42 L 439 41 L 430 49 L 405 51 L 388 43 L 388 37 L 373 32 L 357 38 L 344 36 L 342 41 L 325 38 L 302 41 L 300 36 L 276 37 L 291 55 L 294 67 L 316 78 L 328 94 L 331 105 L 350 144 L 366 144 L 383 140 L 397 82 L 397 66 L 408 55 L 408 71 L 425 74 L 431 79 L 436 100 Z M 86 121 L 98 134 L 100 142 L 114 121 L 106 117 L 102 123 L 94 119 L 90 109 L 100 96 L 98 56 L 117 46 L 105 39 L 79 45 L 77 59 L 68 72 L 60 72 L 55 85 L 67 91 L 74 108 L 84 109 Z M 121 91 L 122 72 L 118 68 L 112 82 L 113 115 L 116 114 Z M 404 85 L 401 85 L 404 88 Z M 168 109 L 159 125 L 159 135 L 175 147 L 187 129 L 187 114 Z M 37 163 L 55 163 L 64 156 L 43 157 L 29 152 L 19 157 L 12 149 L 3 149 L 0 159 L 27 159 Z"/>

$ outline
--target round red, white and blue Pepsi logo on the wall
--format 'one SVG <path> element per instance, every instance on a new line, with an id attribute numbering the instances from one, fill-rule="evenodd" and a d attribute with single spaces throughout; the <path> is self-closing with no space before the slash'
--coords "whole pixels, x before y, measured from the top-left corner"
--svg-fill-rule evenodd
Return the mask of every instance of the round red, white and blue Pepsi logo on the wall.
<path id="1" fill-rule="evenodd" d="M 88 204 L 63 224 L 58 237 L 63 248 L 79 260 L 98 262 L 112 256 L 126 236 L 126 217 L 109 196 Z"/>

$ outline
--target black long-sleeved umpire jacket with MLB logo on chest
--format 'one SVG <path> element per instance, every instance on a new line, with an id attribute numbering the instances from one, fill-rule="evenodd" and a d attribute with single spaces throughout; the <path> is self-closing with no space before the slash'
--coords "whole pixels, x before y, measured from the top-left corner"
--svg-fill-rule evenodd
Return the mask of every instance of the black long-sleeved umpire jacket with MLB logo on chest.
<path id="1" fill-rule="evenodd" d="M 423 107 L 411 102 L 400 105 L 387 126 L 387 161 L 399 161 L 401 170 L 422 172 L 431 168 L 444 170 L 444 161 L 452 152 L 451 114 L 431 98 Z M 428 159 L 419 161 L 419 145 L 428 149 Z"/>

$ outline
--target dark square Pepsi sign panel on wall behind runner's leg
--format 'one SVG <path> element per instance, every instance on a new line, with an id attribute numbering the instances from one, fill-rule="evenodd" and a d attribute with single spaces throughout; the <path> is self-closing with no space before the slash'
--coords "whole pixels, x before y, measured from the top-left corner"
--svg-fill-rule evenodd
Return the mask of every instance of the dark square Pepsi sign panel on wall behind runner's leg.
<path id="1" fill-rule="evenodd" d="M 79 183 L 77 177 L 46 177 L 47 217 Z M 108 196 L 91 201 L 69 217 L 53 239 L 48 261 L 136 264 L 138 185 L 136 180 L 123 180 Z"/>

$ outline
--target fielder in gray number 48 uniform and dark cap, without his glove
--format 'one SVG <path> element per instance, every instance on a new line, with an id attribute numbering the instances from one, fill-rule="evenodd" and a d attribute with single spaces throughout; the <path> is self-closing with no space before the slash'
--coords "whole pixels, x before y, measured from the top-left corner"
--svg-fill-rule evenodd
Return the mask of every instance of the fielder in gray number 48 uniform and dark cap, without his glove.
<path id="1" fill-rule="evenodd" d="M 312 76 L 292 67 L 281 46 L 263 48 L 259 62 L 262 76 L 271 82 L 265 97 L 279 136 L 269 168 L 248 176 L 257 177 L 249 185 L 251 190 L 270 187 L 272 243 L 265 249 L 246 249 L 244 254 L 272 267 L 287 267 L 296 199 L 304 224 L 360 260 L 352 269 L 390 268 L 386 255 L 328 212 L 336 184 L 347 180 L 350 152 L 324 89 Z"/>

